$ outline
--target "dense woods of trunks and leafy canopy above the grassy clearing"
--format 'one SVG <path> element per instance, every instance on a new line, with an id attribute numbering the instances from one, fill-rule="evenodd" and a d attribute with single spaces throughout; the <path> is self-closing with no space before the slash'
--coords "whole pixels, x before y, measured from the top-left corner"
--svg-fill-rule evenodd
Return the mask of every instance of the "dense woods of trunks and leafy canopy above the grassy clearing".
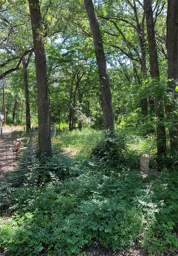
<path id="1" fill-rule="evenodd" d="M 29 129 L 31 111 L 32 125 L 39 117 L 39 147 L 47 152 L 50 105 L 51 122 L 60 127 L 68 124 L 73 130 L 91 122 L 94 128 L 121 125 L 142 135 L 157 130 L 158 154 L 166 150 L 166 139 L 168 148 L 169 143 L 176 148 L 176 4 L 101 1 L 95 5 L 97 17 L 89 0 L 61 2 L 60 10 L 55 1 L 32 1 L 29 7 L 26 1 L 3 1 L 0 54 L 7 124 L 26 123 Z"/>

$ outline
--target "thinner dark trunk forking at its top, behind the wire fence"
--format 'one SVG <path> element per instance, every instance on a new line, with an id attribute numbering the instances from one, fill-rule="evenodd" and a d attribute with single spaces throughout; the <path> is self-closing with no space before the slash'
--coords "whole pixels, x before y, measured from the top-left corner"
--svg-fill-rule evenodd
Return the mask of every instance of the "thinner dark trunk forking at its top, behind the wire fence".
<path id="1" fill-rule="evenodd" d="M 25 106 L 26 106 L 26 131 L 31 129 L 31 120 L 30 120 L 30 100 L 29 100 L 29 89 L 28 89 L 28 64 L 30 62 L 32 52 L 30 52 L 28 60 L 23 58 L 23 74 L 24 74 L 24 83 L 25 83 Z"/>

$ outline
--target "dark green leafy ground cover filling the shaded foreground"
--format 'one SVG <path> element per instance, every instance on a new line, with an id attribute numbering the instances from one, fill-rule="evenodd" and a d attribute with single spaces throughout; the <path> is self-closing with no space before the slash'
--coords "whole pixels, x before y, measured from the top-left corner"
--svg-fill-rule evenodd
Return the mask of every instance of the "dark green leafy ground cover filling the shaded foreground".
<path id="1" fill-rule="evenodd" d="M 82 143 L 81 136 L 88 137 L 78 133 L 76 144 Z M 25 186 L 23 193 L 20 188 L 11 191 L 15 213 L 1 225 L 1 250 L 5 248 L 7 255 L 79 255 L 93 243 L 122 250 L 140 240 L 150 255 L 173 253 L 178 247 L 177 167 L 143 179 L 133 171 L 137 163 L 130 158 L 129 150 L 134 151 L 125 132 L 118 135 L 108 155 L 104 135 L 83 161 L 57 153 L 40 155 L 32 168 L 37 184 Z M 138 137 L 134 138 L 136 147 Z M 121 140 L 127 147 L 119 144 Z M 105 151 L 96 151 L 100 147 Z"/>

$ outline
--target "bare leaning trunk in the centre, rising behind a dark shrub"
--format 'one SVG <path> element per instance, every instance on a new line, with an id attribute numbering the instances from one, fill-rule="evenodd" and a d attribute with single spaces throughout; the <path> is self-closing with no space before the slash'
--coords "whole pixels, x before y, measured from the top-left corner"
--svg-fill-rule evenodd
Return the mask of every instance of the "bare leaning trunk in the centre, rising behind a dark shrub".
<path id="1" fill-rule="evenodd" d="M 98 19 L 94 10 L 92 0 L 84 0 L 85 9 L 90 22 L 95 47 L 96 61 L 99 71 L 99 81 L 101 87 L 102 109 L 104 119 L 104 129 L 114 129 L 114 115 L 112 108 L 112 97 L 109 85 L 109 77 L 105 60 L 102 36 Z"/>

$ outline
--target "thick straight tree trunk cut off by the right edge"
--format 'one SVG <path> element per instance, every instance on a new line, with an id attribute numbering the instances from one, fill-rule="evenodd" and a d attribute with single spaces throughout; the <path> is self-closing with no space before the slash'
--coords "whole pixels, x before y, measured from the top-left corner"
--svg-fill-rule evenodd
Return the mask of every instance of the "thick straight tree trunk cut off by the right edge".
<path id="1" fill-rule="evenodd" d="M 171 118 L 172 128 L 169 130 L 171 149 L 178 150 L 178 117 L 174 114 L 177 107 L 175 87 L 178 82 L 178 0 L 167 1 L 167 56 L 168 56 L 168 93 L 173 95 L 174 102 L 166 107 L 166 112 Z"/>

